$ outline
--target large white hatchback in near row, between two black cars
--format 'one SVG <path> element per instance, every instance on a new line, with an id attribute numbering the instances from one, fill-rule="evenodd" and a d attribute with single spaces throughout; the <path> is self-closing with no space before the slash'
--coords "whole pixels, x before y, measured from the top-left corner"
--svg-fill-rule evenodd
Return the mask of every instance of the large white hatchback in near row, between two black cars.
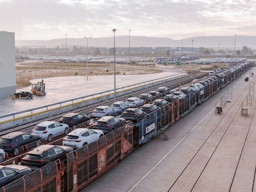
<path id="1" fill-rule="evenodd" d="M 89 128 L 77 128 L 71 131 L 62 139 L 63 146 L 69 146 L 77 149 L 82 148 L 85 144 L 98 140 L 104 133 L 101 130 L 92 130 Z"/>

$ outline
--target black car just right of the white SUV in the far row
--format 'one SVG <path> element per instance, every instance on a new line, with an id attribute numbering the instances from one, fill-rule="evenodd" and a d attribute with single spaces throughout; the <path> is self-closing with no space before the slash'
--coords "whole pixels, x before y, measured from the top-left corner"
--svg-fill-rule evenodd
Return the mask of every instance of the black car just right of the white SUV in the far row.
<path id="1" fill-rule="evenodd" d="M 69 125 L 70 128 L 72 128 L 72 130 L 74 130 L 79 124 L 85 123 L 86 125 L 89 125 L 90 117 L 87 115 L 72 112 L 63 115 L 58 122 L 66 123 L 67 125 Z"/>

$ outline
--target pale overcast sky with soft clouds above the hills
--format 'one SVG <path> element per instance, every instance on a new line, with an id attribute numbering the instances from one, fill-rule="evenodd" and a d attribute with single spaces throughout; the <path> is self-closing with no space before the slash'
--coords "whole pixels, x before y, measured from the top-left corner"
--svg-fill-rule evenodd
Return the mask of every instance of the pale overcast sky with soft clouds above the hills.
<path id="1" fill-rule="evenodd" d="M 0 0 L 15 40 L 256 35 L 255 0 Z"/>

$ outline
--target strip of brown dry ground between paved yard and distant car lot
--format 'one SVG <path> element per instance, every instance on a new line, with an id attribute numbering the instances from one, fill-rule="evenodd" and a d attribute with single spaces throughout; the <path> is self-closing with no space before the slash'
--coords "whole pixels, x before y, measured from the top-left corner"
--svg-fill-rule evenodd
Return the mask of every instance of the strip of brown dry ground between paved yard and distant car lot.
<path id="1" fill-rule="evenodd" d="M 43 62 L 43 61 L 16 61 L 16 88 L 30 86 L 30 80 L 47 77 L 69 77 L 75 75 L 113 75 L 113 64 L 92 64 L 88 63 L 62 63 L 62 62 Z M 190 73 L 190 65 L 175 65 L 175 68 L 186 70 Z M 193 73 L 200 70 L 214 70 L 216 65 L 194 65 Z M 116 64 L 116 75 L 138 75 L 149 73 L 160 73 L 156 65 L 129 65 Z"/>

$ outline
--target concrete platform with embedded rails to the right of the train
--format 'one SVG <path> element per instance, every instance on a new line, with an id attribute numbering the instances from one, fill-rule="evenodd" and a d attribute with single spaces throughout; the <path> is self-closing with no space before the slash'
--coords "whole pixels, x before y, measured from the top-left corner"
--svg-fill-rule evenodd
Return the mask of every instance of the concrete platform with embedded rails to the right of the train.
<path id="1" fill-rule="evenodd" d="M 245 82 L 245 77 L 249 72 L 233 81 L 221 114 L 215 105 L 227 96 L 227 87 L 169 127 L 168 141 L 144 144 L 81 191 L 255 190 L 256 78 Z M 247 103 L 248 114 L 241 115 Z"/>

